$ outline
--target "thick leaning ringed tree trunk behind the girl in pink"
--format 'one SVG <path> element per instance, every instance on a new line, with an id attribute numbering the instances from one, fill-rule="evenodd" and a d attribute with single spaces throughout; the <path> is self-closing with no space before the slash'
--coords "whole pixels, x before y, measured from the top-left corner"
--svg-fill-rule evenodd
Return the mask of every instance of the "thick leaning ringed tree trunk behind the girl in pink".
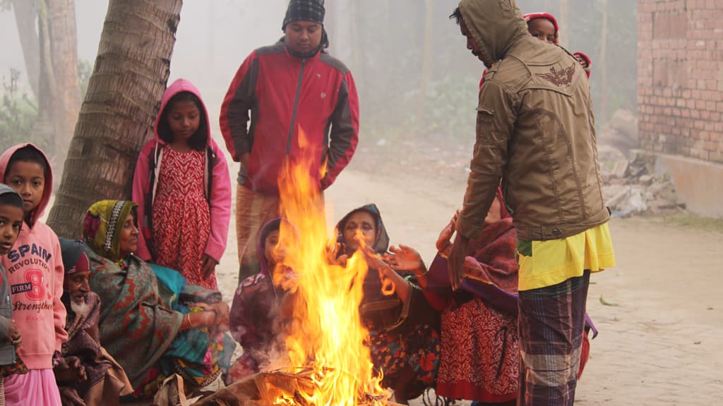
<path id="1" fill-rule="evenodd" d="M 48 224 L 80 236 L 90 204 L 129 199 L 133 170 L 153 123 L 176 43 L 181 0 L 111 0 L 98 56 Z"/>

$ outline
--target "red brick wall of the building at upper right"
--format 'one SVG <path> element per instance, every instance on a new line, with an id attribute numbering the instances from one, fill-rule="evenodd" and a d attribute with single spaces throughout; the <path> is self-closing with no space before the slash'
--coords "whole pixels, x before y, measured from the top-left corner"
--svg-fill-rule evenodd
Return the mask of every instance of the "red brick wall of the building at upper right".
<path id="1" fill-rule="evenodd" d="M 638 0 L 641 147 L 723 163 L 723 0 Z"/>

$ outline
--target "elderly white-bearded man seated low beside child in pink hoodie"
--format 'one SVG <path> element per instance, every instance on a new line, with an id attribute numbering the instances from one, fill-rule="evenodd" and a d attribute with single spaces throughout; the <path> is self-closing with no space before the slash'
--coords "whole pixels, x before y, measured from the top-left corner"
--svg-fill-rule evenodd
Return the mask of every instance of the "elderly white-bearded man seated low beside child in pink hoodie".
<path id="1" fill-rule="evenodd" d="M 100 298 L 90 291 L 90 262 L 80 241 L 59 240 L 68 341 L 54 373 L 63 405 L 118 405 L 132 386 L 123 368 L 100 346 Z"/>

